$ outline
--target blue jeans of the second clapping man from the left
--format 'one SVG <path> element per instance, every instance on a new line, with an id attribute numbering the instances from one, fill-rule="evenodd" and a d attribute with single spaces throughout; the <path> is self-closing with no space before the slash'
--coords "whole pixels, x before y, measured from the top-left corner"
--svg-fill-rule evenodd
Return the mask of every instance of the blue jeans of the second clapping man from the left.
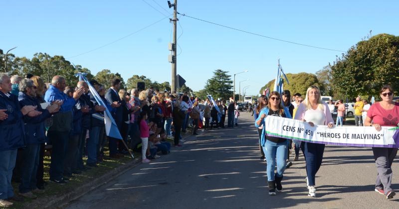
<path id="1" fill-rule="evenodd" d="M 20 193 L 27 193 L 36 189 L 36 173 L 39 165 L 40 144 L 28 144 L 22 150 L 22 181 L 19 185 Z"/>

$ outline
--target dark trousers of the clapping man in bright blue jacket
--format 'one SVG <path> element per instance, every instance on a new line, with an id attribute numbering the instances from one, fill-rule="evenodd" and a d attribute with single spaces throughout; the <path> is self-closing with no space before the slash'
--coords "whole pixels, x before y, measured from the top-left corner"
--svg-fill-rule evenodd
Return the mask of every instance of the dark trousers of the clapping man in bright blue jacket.
<path id="1" fill-rule="evenodd" d="M 65 153 L 69 139 L 69 132 L 49 131 L 47 137 L 51 140 L 50 179 L 61 180 L 64 173 Z"/>

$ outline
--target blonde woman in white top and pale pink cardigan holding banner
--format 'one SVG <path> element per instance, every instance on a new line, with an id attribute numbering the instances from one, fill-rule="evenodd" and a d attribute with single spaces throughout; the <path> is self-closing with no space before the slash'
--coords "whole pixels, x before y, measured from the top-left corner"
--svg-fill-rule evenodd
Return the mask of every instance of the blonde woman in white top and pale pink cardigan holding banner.
<path id="1" fill-rule="evenodd" d="M 334 120 L 331 116 L 328 105 L 322 102 L 320 89 L 317 86 L 311 86 L 306 91 L 306 97 L 303 103 L 298 105 L 295 113 L 295 119 L 308 122 L 309 125 L 327 125 L 333 127 Z M 315 177 L 320 169 L 325 144 L 302 142 L 301 149 L 306 161 L 306 186 L 309 189 L 308 196 L 316 197 Z"/>

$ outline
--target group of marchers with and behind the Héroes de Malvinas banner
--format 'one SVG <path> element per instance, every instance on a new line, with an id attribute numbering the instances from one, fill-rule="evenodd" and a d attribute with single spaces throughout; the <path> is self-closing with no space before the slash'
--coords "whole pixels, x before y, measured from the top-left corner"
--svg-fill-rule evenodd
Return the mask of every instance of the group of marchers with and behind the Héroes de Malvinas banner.
<path id="1" fill-rule="evenodd" d="M 356 124 L 361 125 L 364 121 L 365 126 L 373 126 L 377 131 L 381 126 L 398 126 L 399 124 L 399 103 L 393 101 L 394 90 L 391 86 L 385 85 L 380 91 L 381 101 L 368 104 L 367 101 L 361 101 L 356 98 Z M 334 120 L 331 114 L 331 107 L 321 100 L 320 90 L 317 86 L 311 86 L 307 89 L 305 99 L 300 94 L 295 94 L 294 101 L 290 103 L 290 92 L 285 90 L 280 95 L 278 92 L 271 92 L 269 97 L 260 96 L 257 106 L 254 109 L 255 126 L 259 134 L 259 147 L 261 159 L 265 159 L 266 174 L 269 188 L 269 195 L 276 195 L 276 192 L 282 191 L 281 181 L 286 168 L 292 165 L 289 162 L 289 149 L 291 149 L 291 140 L 266 134 L 265 120 L 268 115 L 293 118 L 308 123 L 310 126 L 326 125 L 328 128 L 334 128 Z M 331 103 L 330 103 L 331 104 Z M 368 106 L 366 106 L 368 105 Z M 338 117 L 336 125 L 342 126 L 342 116 L 340 111 L 345 111 L 345 105 L 342 100 L 333 104 L 337 106 Z M 364 119 L 362 113 L 366 112 Z M 308 196 L 316 197 L 316 174 L 319 171 L 322 161 L 325 144 L 301 142 L 294 140 L 295 158 L 299 158 L 299 150 L 306 162 L 307 177 L 306 188 L 309 190 Z M 392 199 L 395 196 L 392 186 L 392 163 L 397 155 L 398 148 L 373 147 L 374 159 L 377 167 L 377 180 L 375 191 L 385 195 L 386 199 Z M 277 167 L 275 171 L 275 167 Z"/>

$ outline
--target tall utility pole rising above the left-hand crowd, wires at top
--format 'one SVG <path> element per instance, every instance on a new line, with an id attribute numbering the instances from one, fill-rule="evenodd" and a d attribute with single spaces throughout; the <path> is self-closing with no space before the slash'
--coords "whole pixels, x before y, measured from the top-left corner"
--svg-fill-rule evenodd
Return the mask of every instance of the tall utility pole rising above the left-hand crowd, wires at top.
<path id="1" fill-rule="evenodd" d="M 176 76 L 177 76 L 177 13 L 178 13 L 178 0 L 174 0 L 174 3 L 171 4 L 171 1 L 168 0 L 168 5 L 169 8 L 172 8 L 173 6 L 173 19 L 170 19 L 170 21 L 173 24 L 173 42 L 169 46 L 169 50 L 171 50 L 171 55 L 169 55 L 169 62 L 172 63 L 172 84 L 171 84 L 171 92 L 176 92 L 177 89 L 177 81 L 176 81 Z"/>

